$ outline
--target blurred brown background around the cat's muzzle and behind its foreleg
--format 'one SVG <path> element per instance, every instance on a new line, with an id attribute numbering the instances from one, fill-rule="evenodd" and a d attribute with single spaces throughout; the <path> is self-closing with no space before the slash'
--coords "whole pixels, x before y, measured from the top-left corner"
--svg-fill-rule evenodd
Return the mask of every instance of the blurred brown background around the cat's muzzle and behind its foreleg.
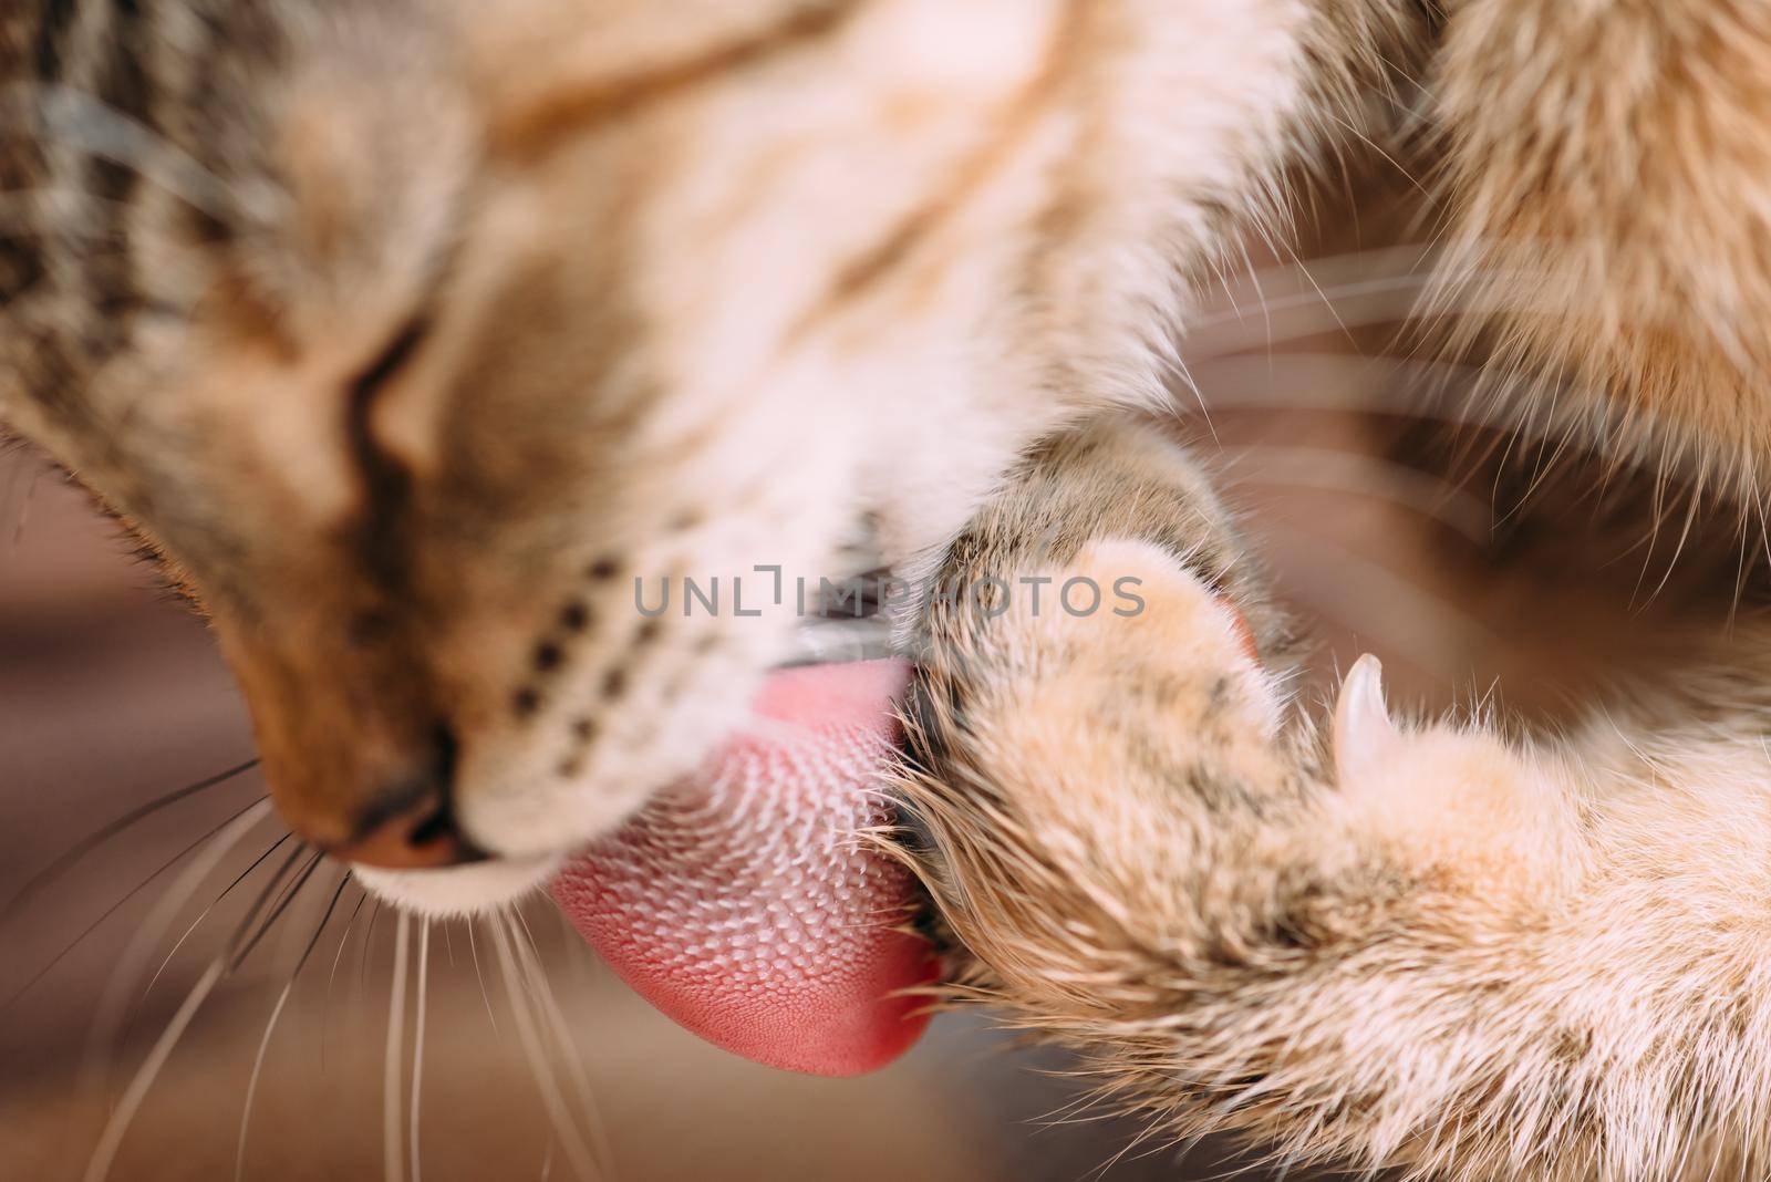
<path id="1" fill-rule="evenodd" d="M 1677 644 L 1672 625 L 1702 596 L 1661 579 L 1668 556 L 1642 543 L 1640 522 L 1613 527 L 1631 504 L 1628 481 L 1601 497 L 1578 462 L 1548 480 L 1541 464 L 1493 464 L 1532 448 L 1498 432 L 1504 446 L 1488 451 L 1438 451 L 1435 425 L 1458 418 L 1468 391 L 1456 373 L 1422 375 L 1388 338 L 1417 290 L 1417 260 L 1319 253 L 1309 271 L 1273 264 L 1204 310 L 1176 388 L 1176 430 L 1220 465 L 1249 536 L 1318 637 L 1305 694 L 1325 694 L 1337 669 L 1376 651 L 1397 702 L 1488 701 L 1528 725 Z M 1518 495 L 1518 472 L 1532 497 Z M 147 802 L 250 757 L 241 702 L 202 623 L 154 591 L 64 474 L 27 449 L 0 458 L 0 901 Z M 282 856 L 225 890 L 282 833 L 264 821 L 198 881 L 181 881 L 193 842 L 262 793 L 246 771 L 168 803 L 0 918 L 0 1177 L 80 1177 L 106 1115 Z M 397 922 L 335 886 L 336 874 L 319 871 L 324 890 L 303 892 L 191 1021 L 113 1178 L 232 1177 L 253 1079 L 246 1177 L 381 1175 Z M 659 1017 L 545 906 L 528 924 L 611 1177 L 1057 1182 L 1226 1168 L 1215 1147 L 1183 1161 L 1160 1138 L 1139 1141 L 1135 1122 L 1089 1106 L 1061 1058 L 1017 1048 L 985 1014 L 937 1019 L 909 1058 L 866 1079 L 786 1076 Z M 427 959 L 423 1175 L 572 1177 L 538 1079 L 553 1078 L 568 1104 L 576 1085 L 524 1053 L 487 933 L 432 925 Z M 533 1009 L 524 987 L 515 1003 Z M 407 1002 L 407 1081 L 416 1021 Z M 406 1118 L 398 1138 L 411 1138 Z"/>

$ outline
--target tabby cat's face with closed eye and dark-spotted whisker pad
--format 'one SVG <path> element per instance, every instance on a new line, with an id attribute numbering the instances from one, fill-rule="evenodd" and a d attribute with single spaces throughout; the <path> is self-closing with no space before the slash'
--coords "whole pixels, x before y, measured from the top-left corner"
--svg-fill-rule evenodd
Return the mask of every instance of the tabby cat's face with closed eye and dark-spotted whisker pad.
<path id="1" fill-rule="evenodd" d="M 871 73 L 935 7 L 161 7 L 0 42 L 0 412 L 202 603 L 321 848 L 526 885 L 1064 409 L 944 205 L 1045 5 Z"/>

